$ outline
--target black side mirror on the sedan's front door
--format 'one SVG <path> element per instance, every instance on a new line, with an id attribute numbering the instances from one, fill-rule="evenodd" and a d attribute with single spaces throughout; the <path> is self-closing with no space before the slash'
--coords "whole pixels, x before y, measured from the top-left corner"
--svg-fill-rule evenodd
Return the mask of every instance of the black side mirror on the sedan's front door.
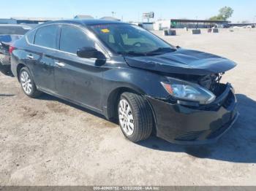
<path id="1" fill-rule="evenodd" d="M 82 47 L 78 49 L 77 55 L 80 58 L 97 58 L 105 60 L 105 55 L 94 47 Z"/>

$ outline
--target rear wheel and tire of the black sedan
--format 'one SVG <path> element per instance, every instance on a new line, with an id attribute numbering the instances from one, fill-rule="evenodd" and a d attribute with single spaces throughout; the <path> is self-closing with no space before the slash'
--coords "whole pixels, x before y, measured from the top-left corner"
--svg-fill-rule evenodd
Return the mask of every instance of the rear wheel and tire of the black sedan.
<path id="1" fill-rule="evenodd" d="M 29 68 L 23 67 L 20 69 L 20 85 L 23 93 L 28 95 L 30 98 L 37 98 L 42 94 L 39 90 L 37 90 L 36 85 L 34 84 L 34 79 L 29 71 Z"/>

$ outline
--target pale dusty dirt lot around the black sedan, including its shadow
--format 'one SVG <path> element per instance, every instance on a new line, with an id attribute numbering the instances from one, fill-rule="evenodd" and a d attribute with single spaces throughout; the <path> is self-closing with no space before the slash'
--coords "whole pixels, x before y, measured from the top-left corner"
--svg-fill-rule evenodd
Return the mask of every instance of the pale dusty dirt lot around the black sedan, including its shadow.
<path id="1" fill-rule="evenodd" d="M 0 184 L 256 185 L 256 30 L 177 34 L 165 39 L 238 63 L 223 81 L 236 87 L 241 116 L 217 144 L 132 144 L 118 125 L 50 95 L 28 98 L 0 72 Z"/>

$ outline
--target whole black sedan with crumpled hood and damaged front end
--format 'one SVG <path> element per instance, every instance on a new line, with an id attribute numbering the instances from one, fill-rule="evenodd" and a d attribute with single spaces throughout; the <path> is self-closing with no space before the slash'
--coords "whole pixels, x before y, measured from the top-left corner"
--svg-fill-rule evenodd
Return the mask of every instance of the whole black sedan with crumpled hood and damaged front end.
<path id="1" fill-rule="evenodd" d="M 236 121 L 236 63 L 174 47 L 138 26 L 61 20 L 29 31 L 11 48 L 23 92 L 42 92 L 117 119 L 137 142 L 152 132 L 178 144 L 216 141 Z"/>

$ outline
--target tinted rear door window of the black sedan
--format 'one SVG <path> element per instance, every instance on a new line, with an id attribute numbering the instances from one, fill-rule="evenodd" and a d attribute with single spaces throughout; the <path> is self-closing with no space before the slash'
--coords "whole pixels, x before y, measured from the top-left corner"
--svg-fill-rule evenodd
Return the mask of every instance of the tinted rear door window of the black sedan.
<path id="1" fill-rule="evenodd" d="M 56 39 L 59 26 L 43 26 L 37 29 L 37 34 L 34 37 L 34 44 L 42 47 L 56 49 Z"/>

